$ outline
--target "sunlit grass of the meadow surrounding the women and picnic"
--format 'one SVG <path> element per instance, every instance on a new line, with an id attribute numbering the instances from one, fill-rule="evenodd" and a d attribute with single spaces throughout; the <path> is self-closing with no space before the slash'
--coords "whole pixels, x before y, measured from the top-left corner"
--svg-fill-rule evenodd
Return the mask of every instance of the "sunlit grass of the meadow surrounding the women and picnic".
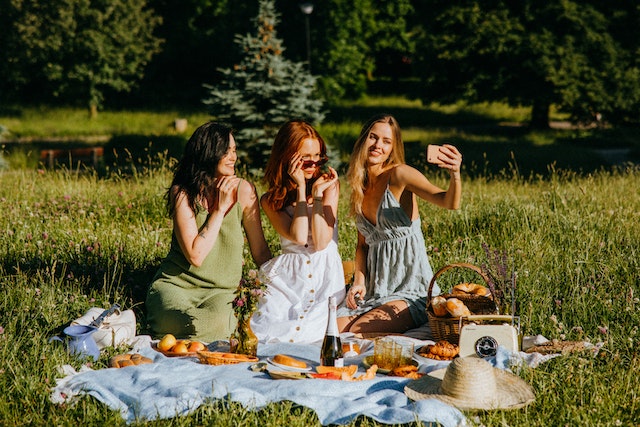
<path id="1" fill-rule="evenodd" d="M 415 108 L 410 114 L 416 117 L 424 112 L 421 106 L 406 108 L 407 114 Z M 357 120 L 328 122 L 323 135 L 351 135 L 351 122 Z M 0 123 L 6 124 L 3 119 Z M 467 147 L 462 208 L 449 212 L 420 205 L 433 267 L 482 264 L 483 244 L 505 251 L 518 272 L 518 313 L 525 334 L 603 343 L 597 357 L 566 355 L 519 372 L 536 392 L 536 402 L 528 408 L 470 413 L 469 419 L 485 426 L 637 425 L 640 170 L 611 168 L 595 157 L 586 162 L 575 146 L 572 167 L 554 166 L 544 156 L 531 159 L 544 173 L 523 173 L 519 159 L 509 163 L 510 151 L 541 153 L 574 138 L 582 138 L 584 147 L 597 146 L 595 139 L 611 134 L 554 130 L 532 135 L 495 126 L 469 130 L 417 124 L 409 129 Z M 411 134 L 407 139 L 413 139 Z M 637 141 L 629 137 L 626 143 L 634 146 Z M 502 151 L 473 155 L 474 147 L 480 151 L 491 144 L 507 150 L 506 162 L 500 160 L 497 170 L 486 163 L 498 162 L 494 154 Z M 520 147 L 525 144 L 526 150 Z M 7 158 L 11 163 L 12 157 Z M 80 365 L 47 340 L 88 308 L 113 302 L 133 308 L 144 324 L 146 286 L 170 241 L 171 223 L 162 200 L 170 164 L 166 155 L 149 152 L 136 165 L 110 165 L 103 173 L 14 165 L 0 170 L 0 387 L 5 393 L 0 424 L 124 425 L 118 413 L 91 397 L 73 406 L 49 401 L 50 388 L 60 377 L 58 366 Z M 446 185 L 431 166 L 419 167 Z M 348 187 L 342 188 L 339 249 L 350 259 L 356 236 L 347 215 Z M 270 226 L 265 232 L 277 251 L 277 235 Z M 446 287 L 459 279 L 445 273 L 440 283 Z M 123 350 L 105 353 L 93 368 L 106 367 L 108 357 Z M 290 402 L 256 412 L 232 402 L 212 402 L 190 416 L 146 424 L 319 425 L 312 411 Z M 360 418 L 350 425 L 377 424 Z"/>

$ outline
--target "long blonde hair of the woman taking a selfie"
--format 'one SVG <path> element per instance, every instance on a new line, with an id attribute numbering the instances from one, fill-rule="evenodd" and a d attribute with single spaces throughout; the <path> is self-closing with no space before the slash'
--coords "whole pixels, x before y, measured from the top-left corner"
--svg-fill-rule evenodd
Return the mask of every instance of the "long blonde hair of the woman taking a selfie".
<path id="1" fill-rule="evenodd" d="M 376 123 L 387 123 L 391 127 L 393 135 L 391 153 L 385 161 L 384 166 L 400 165 L 404 163 L 404 144 L 402 142 L 402 132 L 398 121 L 389 114 L 379 114 L 373 116 L 362 126 L 360 136 L 353 146 L 351 159 L 349 160 L 349 169 L 347 170 L 347 181 L 351 186 L 351 213 L 362 214 L 362 202 L 364 200 L 364 190 L 369 183 L 369 175 L 367 173 L 367 157 L 369 150 L 367 148 L 367 139 L 371 128 Z"/>

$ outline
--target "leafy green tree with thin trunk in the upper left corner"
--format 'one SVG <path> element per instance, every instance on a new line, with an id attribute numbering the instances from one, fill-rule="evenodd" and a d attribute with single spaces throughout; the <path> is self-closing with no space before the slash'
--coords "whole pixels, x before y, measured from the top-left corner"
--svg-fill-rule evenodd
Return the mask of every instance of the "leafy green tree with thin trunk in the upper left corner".
<path id="1" fill-rule="evenodd" d="M 5 1 L 12 17 L 11 78 L 54 96 L 79 97 L 95 114 L 107 90 L 130 91 L 159 51 L 161 18 L 146 0 Z"/>

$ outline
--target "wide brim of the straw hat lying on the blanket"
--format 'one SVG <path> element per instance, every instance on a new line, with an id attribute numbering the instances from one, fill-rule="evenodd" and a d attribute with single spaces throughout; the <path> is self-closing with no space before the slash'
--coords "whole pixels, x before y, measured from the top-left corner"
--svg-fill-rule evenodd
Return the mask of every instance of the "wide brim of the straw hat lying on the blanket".
<path id="1" fill-rule="evenodd" d="M 494 396 L 465 396 L 455 398 L 442 393 L 445 369 L 439 369 L 411 381 L 404 393 L 411 400 L 438 399 L 462 410 L 518 409 L 535 400 L 533 389 L 517 375 L 494 368 L 497 392 Z"/>

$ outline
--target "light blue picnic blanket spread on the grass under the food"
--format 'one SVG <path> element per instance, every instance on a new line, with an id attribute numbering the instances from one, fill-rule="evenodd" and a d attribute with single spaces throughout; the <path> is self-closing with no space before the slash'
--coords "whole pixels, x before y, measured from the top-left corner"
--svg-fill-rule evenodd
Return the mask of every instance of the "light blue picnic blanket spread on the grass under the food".
<path id="1" fill-rule="evenodd" d="M 252 371 L 247 363 L 210 366 L 197 363 L 193 358 L 165 357 L 151 347 L 149 337 L 138 338 L 134 351 L 153 359 L 154 363 L 100 370 L 83 366 L 80 372 L 65 365 L 62 367 L 65 376 L 57 380 L 51 400 L 71 403 L 79 396 L 91 395 L 119 411 L 128 423 L 187 415 L 208 401 L 229 399 L 247 409 L 259 409 L 271 402 L 289 400 L 313 409 L 322 425 L 348 424 L 360 415 L 384 424 L 421 420 L 437 422 L 445 427 L 467 425 L 465 416 L 452 406 L 436 399 L 417 402 L 408 399 L 404 387 L 410 380 L 405 378 L 378 375 L 361 382 L 274 380 L 266 372 Z M 416 346 L 422 344 L 417 341 Z M 366 351 L 358 358 L 347 359 L 346 363 L 360 364 L 364 357 L 373 354 L 372 347 L 367 349 L 363 346 Z M 228 343 L 214 342 L 209 349 L 228 351 Z M 320 348 L 313 345 L 263 344 L 258 349 L 261 361 L 280 353 L 306 359 L 313 365 L 317 365 L 320 358 Z M 520 358 L 520 362 L 529 365 L 541 360 Z M 514 354 L 499 352 L 489 361 L 494 366 L 507 369 L 514 361 Z M 419 370 L 429 372 L 446 367 L 448 363 L 425 359 L 421 361 Z"/>

